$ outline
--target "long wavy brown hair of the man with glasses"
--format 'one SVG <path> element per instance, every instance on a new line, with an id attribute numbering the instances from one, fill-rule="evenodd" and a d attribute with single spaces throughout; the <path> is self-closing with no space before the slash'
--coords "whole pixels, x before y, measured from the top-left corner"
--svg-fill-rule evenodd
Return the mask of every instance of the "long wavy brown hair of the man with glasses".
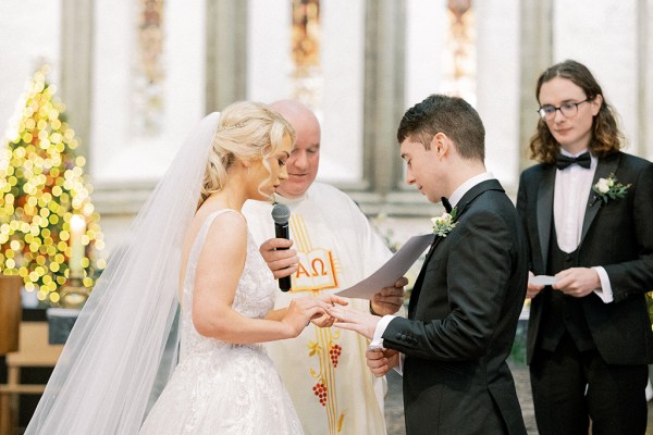
<path id="1" fill-rule="evenodd" d="M 619 130 L 615 111 L 607 103 L 601 86 L 590 73 L 587 66 L 576 61 L 566 60 L 551 66 L 538 78 L 535 88 L 535 98 L 540 101 L 540 89 L 546 82 L 562 77 L 570 80 L 580 87 L 586 96 L 594 99 L 597 95 L 603 97 L 599 114 L 592 121 L 592 138 L 590 140 L 590 151 L 593 156 L 604 157 L 618 151 L 624 144 L 624 134 Z M 559 153 L 559 144 L 549 129 L 546 122 L 538 121 L 538 127 L 530 139 L 531 159 L 543 163 L 554 163 Z"/>

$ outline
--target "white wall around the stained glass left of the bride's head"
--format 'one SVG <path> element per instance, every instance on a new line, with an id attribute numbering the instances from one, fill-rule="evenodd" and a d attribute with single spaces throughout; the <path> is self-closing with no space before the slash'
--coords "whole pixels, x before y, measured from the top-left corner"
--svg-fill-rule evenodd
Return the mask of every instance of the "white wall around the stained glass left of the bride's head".
<path id="1" fill-rule="evenodd" d="M 121 182 L 156 182 L 172 163 L 204 108 L 202 2 L 169 1 L 165 45 L 160 62 L 164 78 L 139 91 L 138 35 L 133 2 L 99 0 L 94 53 L 93 129 L 89 174 L 98 188 Z M 116 23 L 123 25 L 118 32 Z M 144 95 L 157 92 L 160 110 L 150 120 Z"/>

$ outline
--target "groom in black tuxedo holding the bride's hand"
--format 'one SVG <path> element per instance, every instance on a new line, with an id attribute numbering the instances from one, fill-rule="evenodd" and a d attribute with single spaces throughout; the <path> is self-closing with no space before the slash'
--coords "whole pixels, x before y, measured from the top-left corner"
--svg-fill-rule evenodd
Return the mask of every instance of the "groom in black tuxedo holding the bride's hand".
<path id="1" fill-rule="evenodd" d="M 451 203 L 453 223 L 436 225 L 442 236 L 408 319 L 332 312 L 338 326 L 382 346 L 367 352 L 375 375 L 401 366 L 408 435 L 526 434 L 505 360 L 526 295 L 527 246 L 515 207 L 485 171 L 484 136 L 460 98 L 432 95 L 406 112 L 397 139 L 407 183 L 431 202 Z"/>

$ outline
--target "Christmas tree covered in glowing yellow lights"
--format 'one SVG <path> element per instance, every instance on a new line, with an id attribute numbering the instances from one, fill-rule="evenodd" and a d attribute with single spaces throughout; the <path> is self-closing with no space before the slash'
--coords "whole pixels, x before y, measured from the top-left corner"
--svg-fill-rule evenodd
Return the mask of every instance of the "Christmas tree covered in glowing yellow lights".
<path id="1" fill-rule="evenodd" d="M 0 146 L 0 272 L 57 306 L 72 282 L 90 289 L 104 268 L 99 214 L 65 107 L 37 71 Z M 74 279 L 73 279 L 74 278 Z"/>

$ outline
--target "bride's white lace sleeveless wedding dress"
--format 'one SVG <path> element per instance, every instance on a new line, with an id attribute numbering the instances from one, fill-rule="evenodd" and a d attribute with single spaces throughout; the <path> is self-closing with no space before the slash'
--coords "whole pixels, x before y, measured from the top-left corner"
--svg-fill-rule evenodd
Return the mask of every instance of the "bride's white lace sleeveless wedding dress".
<path id="1" fill-rule="evenodd" d="M 289 396 L 261 345 L 207 338 L 193 325 L 197 260 L 211 223 L 222 212 L 227 210 L 207 217 L 190 249 L 183 290 L 180 363 L 139 434 L 303 433 Z M 275 291 L 279 289 L 272 272 L 248 232 L 247 258 L 233 309 L 249 318 L 262 318 L 273 308 Z"/>

